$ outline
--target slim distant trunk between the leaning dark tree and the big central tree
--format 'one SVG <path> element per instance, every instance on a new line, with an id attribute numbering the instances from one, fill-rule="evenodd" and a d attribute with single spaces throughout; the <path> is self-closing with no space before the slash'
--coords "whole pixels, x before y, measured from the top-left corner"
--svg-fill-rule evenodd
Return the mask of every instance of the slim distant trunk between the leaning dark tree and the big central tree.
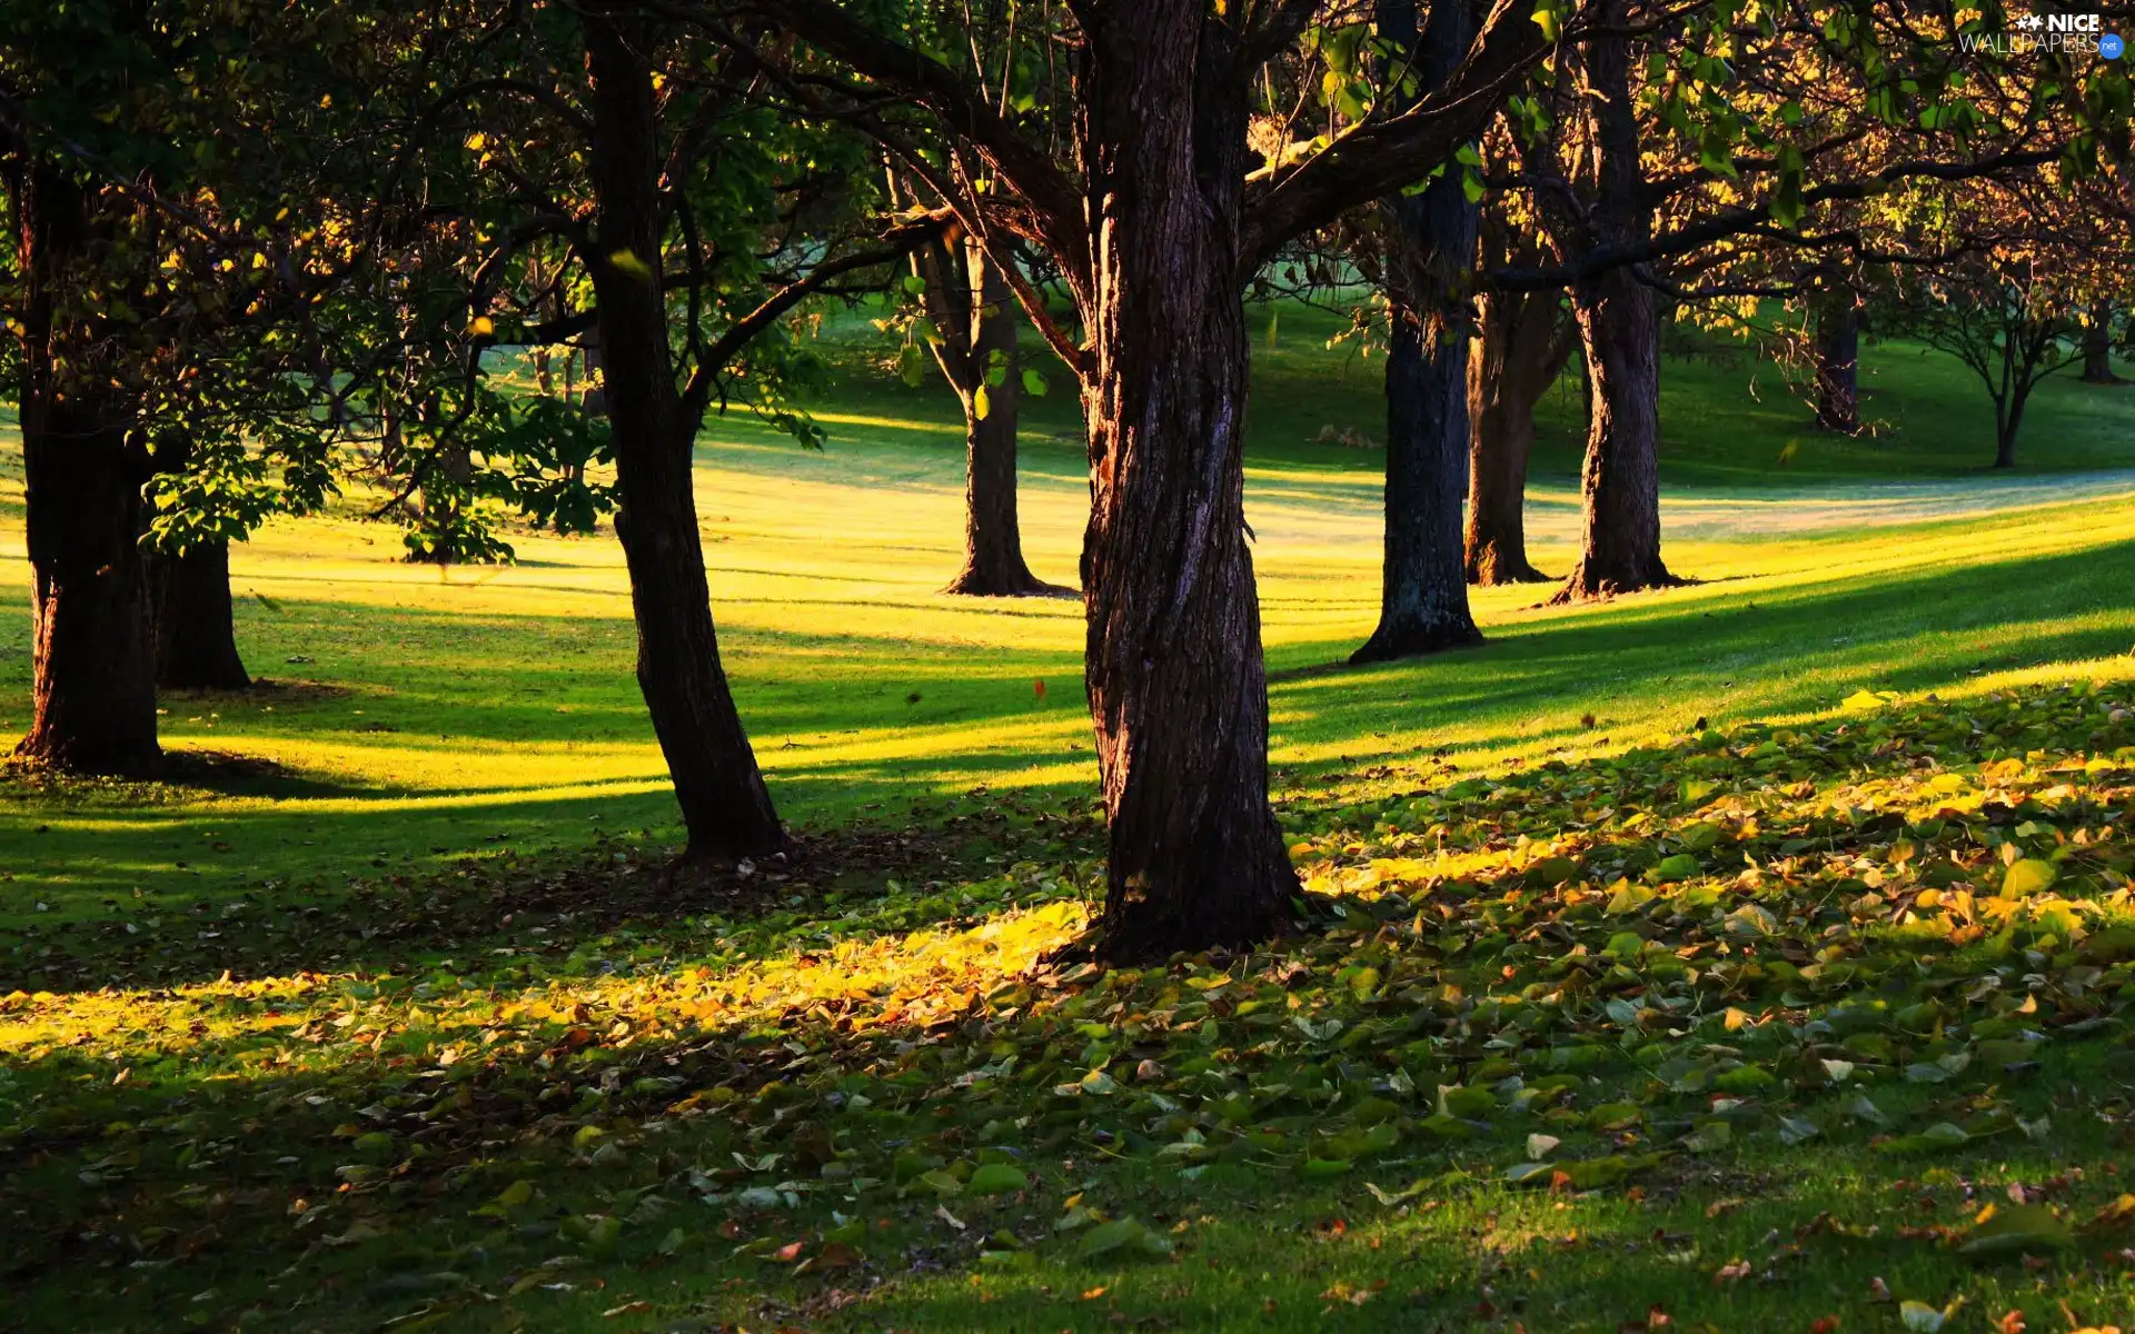
<path id="1" fill-rule="evenodd" d="M 946 260 L 946 254 L 937 256 L 937 265 Z M 1016 299 L 976 241 L 965 245 L 963 271 L 967 350 L 956 371 L 942 361 L 963 403 L 963 570 L 942 591 L 976 598 L 1070 593 L 1044 583 L 1023 563 L 1023 525 L 1016 519 L 1016 412 L 1023 406 Z M 937 346 L 937 352 L 946 350 Z M 995 354 L 1006 374 L 999 384 L 986 384 Z M 978 412 L 980 386 L 986 388 L 984 416 Z"/>

